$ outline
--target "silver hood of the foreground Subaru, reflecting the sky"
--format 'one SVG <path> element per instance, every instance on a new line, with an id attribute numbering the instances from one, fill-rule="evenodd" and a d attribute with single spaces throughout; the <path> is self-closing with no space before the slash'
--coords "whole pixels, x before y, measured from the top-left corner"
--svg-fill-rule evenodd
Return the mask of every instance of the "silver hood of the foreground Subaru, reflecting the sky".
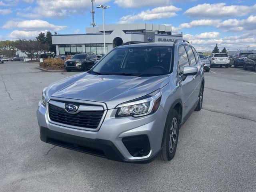
<path id="1" fill-rule="evenodd" d="M 168 75 L 135 77 L 93 75 L 85 72 L 48 86 L 46 99 L 58 97 L 104 102 L 111 109 L 123 102 L 150 94 L 168 83 Z"/>

